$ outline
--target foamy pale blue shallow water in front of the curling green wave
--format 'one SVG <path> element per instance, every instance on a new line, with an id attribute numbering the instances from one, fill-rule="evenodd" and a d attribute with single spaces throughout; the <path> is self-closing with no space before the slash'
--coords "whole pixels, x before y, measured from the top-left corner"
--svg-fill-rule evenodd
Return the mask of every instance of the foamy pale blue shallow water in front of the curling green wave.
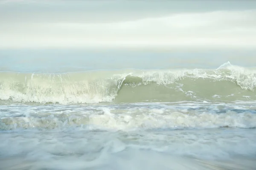
<path id="1" fill-rule="evenodd" d="M 1 169 L 253 170 L 251 104 L 2 105 Z"/>

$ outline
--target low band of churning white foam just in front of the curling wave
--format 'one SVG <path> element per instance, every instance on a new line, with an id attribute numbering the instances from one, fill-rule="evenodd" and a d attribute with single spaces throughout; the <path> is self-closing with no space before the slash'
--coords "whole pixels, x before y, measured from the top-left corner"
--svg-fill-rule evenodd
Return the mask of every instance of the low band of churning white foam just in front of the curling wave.
<path id="1" fill-rule="evenodd" d="M 204 102 L 208 105 L 209 102 Z M 53 107 L 56 107 L 52 110 Z M 67 107 L 67 106 L 66 106 Z M 1 107 L 1 129 L 62 129 L 83 126 L 85 129 L 138 130 L 155 128 L 256 127 L 256 115 L 246 107 L 223 108 L 212 105 L 209 111 L 201 106 L 127 105 L 126 107 L 94 106 Z M 16 109 L 19 108 L 19 111 Z M 232 111 L 239 109 L 238 113 Z M 61 109 L 61 111 L 59 111 Z M 40 110 L 40 112 L 38 111 Z"/>

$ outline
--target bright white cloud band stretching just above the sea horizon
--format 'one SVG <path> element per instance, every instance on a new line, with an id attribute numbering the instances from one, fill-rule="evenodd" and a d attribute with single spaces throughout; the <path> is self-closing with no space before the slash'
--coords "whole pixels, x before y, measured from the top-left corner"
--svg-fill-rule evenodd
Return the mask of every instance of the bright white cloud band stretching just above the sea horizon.
<path id="1" fill-rule="evenodd" d="M 255 10 L 175 12 L 129 20 L 122 17 L 129 13 L 120 13 L 119 20 L 108 22 L 104 19 L 93 22 L 95 15 L 90 13 L 66 11 L 56 14 L 58 19 L 55 20 L 51 20 L 53 13 L 47 11 L 32 11 L 24 14 L 20 21 L 2 17 L 5 20 L 0 26 L 0 48 L 202 49 L 256 46 Z M 108 12 L 102 11 L 99 15 L 104 14 Z"/>

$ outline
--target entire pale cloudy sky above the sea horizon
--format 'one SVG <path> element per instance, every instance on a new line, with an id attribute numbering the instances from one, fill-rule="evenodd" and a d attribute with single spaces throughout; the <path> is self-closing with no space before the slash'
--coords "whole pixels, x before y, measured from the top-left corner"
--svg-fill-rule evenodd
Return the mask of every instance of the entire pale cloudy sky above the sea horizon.
<path id="1" fill-rule="evenodd" d="M 241 49 L 256 1 L 2 0 L 0 49 Z"/>

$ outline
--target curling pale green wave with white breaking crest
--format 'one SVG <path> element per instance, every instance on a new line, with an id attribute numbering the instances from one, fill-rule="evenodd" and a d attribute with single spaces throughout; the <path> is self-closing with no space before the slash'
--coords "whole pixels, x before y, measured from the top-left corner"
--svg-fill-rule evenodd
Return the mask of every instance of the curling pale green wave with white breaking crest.
<path id="1" fill-rule="evenodd" d="M 0 99 L 99 103 L 243 100 L 256 97 L 256 69 L 116 70 L 63 74 L 0 72 Z"/>

